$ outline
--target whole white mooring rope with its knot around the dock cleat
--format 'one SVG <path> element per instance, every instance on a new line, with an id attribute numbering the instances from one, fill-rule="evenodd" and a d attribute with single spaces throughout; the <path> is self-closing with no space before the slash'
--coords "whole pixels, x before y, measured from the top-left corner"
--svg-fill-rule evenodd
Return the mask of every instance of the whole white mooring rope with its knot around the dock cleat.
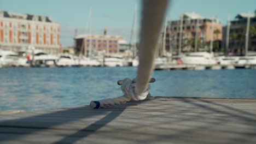
<path id="1" fill-rule="evenodd" d="M 131 100 L 144 100 L 149 94 L 149 82 L 154 70 L 154 59 L 157 53 L 157 43 L 164 22 L 168 0 L 144 0 L 142 8 L 141 33 L 139 44 L 139 65 L 136 79 L 126 78 L 121 83 L 123 96 L 98 101 L 91 101 L 90 106 L 94 109 L 124 104 Z"/>

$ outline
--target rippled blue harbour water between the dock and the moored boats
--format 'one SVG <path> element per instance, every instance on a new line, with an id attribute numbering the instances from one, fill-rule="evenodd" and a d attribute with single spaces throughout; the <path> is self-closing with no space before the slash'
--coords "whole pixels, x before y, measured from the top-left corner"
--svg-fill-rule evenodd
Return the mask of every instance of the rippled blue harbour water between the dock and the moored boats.
<path id="1" fill-rule="evenodd" d="M 0 69 L 0 111 L 88 105 L 123 93 L 117 80 L 135 67 Z M 256 70 L 154 71 L 154 96 L 256 98 Z"/>

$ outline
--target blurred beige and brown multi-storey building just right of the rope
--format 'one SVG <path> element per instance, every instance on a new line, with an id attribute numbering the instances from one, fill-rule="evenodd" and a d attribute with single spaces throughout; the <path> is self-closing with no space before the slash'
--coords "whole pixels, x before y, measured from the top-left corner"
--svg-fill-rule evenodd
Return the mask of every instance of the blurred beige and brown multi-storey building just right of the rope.
<path id="1" fill-rule="evenodd" d="M 179 20 L 167 22 L 165 49 L 178 53 L 181 44 L 181 52 L 195 51 L 197 40 L 196 51 L 209 51 L 211 38 L 213 50 L 218 49 L 222 41 L 222 25 L 218 19 L 204 18 L 196 13 L 185 13 Z"/>

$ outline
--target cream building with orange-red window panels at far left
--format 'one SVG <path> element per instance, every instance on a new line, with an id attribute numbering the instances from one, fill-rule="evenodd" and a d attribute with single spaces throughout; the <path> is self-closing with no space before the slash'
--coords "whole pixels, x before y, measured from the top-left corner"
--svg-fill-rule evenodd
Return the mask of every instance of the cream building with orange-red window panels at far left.
<path id="1" fill-rule="evenodd" d="M 60 49 L 60 25 L 47 16 L 0 11 L 0 49 L 21 51 L 33 45 L 48 53 Z"/>

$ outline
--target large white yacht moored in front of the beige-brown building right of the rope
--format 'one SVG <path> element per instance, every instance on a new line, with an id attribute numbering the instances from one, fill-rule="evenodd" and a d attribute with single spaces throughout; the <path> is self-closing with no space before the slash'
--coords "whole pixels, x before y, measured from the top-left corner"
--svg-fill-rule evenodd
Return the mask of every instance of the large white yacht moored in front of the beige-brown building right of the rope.
<path id="1" fill-rule="evenodd" d="M 193 52 L 187 56 L 181 58 L 183 64 L 194 64 L 194 65 L 215 65 L 217 64 L 216 59 L 212 53 L 208 52 Z"/>

